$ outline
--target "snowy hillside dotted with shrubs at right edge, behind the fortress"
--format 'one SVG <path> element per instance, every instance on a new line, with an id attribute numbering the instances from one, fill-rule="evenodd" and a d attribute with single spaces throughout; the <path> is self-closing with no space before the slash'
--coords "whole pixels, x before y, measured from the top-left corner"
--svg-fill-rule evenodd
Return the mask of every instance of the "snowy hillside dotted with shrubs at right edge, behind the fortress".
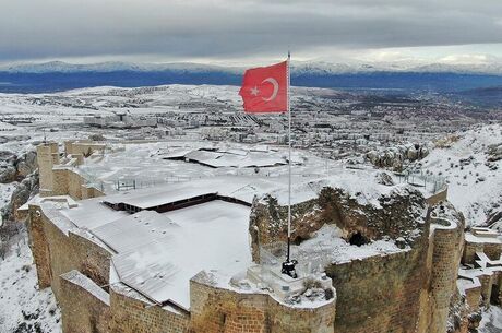
<path id="1" fill-rule="evenodd" d="M 490 168 L 487 154 L 489 145 L 502 143 L 502 126 L 477 127 L 461 135 L 451 147 L 433 150 L 422 165 L 447 179 L 449 200 L 467 224 L 480 225 L 502 205 L 502 160 L 490 163 Z"/>

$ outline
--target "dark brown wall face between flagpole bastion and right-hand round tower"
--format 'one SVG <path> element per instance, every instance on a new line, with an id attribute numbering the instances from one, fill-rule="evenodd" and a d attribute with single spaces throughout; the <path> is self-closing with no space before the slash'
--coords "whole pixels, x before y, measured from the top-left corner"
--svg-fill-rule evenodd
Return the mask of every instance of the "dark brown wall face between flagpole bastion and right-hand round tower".
<path id="1" fill-rule="evenodd" d="M 406 252 L 326 267 L 337 294 L 336 333 L 420 332 L 427 236 Z"/>

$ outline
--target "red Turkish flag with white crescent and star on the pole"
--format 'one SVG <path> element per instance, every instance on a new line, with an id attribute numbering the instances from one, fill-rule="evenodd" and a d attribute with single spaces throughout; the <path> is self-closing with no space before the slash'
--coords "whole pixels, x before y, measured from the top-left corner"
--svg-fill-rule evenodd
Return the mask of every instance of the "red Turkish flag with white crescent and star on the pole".
<path id="1" fill-rule="evenodd" d="M 246 71 L 239 91 L 246 112 L 286 112 L 288 110 L 288 62 Z"/>

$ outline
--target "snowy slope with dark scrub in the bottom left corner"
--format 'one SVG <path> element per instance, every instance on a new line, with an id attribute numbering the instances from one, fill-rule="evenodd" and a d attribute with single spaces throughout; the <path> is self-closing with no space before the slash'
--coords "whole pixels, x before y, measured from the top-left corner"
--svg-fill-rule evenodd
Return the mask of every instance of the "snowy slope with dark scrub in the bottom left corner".
<path id="1" fill-rule="evenodd" d="M 0 332 L 61 332 L 61 314 L 52 290 L 38 289 L 25 233 L 5 260 L 0 258 Z"/>

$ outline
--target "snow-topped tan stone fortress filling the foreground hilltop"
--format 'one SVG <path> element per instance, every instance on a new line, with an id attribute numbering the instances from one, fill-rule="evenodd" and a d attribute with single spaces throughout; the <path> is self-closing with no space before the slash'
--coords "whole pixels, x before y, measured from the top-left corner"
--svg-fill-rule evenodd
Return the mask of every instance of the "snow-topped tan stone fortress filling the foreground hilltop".
<path id="1" fill-rule="evenodd" d="M 37 147 L 40 195 L 19 216 L 64 333 L 459 333 L 502 301 L 501 237 L 465 233 L 447 188 L 422 193 L 379 170 L 298 185 L 308 194 L 291 207 L 290 278 L 279 271 L 283 182 L 225 176 L 106 193 L 79 166 L 107 146 L 63 146 Z M 350 190 L 352 179 L 371 190 Z"/>

